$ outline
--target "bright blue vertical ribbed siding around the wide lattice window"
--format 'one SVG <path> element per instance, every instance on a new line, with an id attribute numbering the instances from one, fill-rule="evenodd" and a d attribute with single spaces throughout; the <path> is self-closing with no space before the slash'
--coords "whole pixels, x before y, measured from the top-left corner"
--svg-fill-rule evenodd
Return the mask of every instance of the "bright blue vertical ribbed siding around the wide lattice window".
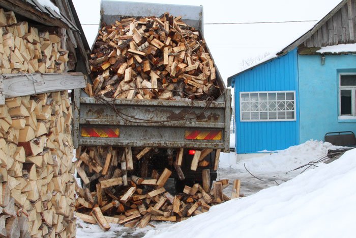
<path id="1" fill-rule="evenodd" d="M 279 150 L 299 144 L 298 56 L 287 55 L 257 66 L 235 78 L 235 146 L 238 153 Z M 296 121 L 241 122 L 240 92 L 295 91 Z"/>

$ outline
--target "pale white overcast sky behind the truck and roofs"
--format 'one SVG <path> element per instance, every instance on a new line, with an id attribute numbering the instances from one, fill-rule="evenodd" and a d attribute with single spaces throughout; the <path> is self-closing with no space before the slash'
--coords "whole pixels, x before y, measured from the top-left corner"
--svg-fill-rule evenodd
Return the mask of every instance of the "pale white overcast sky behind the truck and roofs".
<path id="1" fill-rule="evenodd" d="M 258 24 L 207 23 L 320 20 L 341 0 L 136 0 L 127 2 L 202 5 L 204 38 L 226 82 L 227 77 L 242 70 L 243 59 L 257 58 L 265 52 L 274 54 L 303 35 L 317 21 Z M 73 3 L 91 46 L 98 31 L 100 0 L 73 0 Z"/>

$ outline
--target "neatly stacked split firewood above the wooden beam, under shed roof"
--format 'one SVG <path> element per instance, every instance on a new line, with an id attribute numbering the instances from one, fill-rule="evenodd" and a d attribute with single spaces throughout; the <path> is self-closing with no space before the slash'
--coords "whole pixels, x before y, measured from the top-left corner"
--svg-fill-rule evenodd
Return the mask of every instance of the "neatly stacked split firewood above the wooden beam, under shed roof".
<path id="1" fill-rule="evenodd" d="M 61 37 L 17 22 L 14 12 L 0 9 L 0 73 L 64 72 L 68 50 Z"/>

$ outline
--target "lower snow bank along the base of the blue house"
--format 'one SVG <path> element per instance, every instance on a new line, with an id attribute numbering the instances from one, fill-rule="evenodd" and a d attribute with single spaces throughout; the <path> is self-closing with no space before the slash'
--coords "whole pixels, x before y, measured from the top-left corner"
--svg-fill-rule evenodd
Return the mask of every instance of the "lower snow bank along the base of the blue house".
<path id="1" fill-rule="evenodd" d="M 238 161 L 237 164 L 231 159 L 232 155 L 224 154 L 220 158 L 219 168 L 244 169 L 244 164 L 246 164 L 247 169 L 252 173 L 288 172 L 311 161 L 316 161 L 327 154 L 329 149 L 336 148 L 342 147 L 333 146 L 329 142 L 310 140 L 285 150 L 272 151 L 270 154 L 263 156 L 246 158 Z"/>

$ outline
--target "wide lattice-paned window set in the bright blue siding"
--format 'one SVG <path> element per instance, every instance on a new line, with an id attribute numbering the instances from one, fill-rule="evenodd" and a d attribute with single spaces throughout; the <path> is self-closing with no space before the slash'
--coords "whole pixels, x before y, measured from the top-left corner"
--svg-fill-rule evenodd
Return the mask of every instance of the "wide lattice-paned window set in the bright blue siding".
<path id="1" fill-rule="evenodd" d="M 295 91 L 240 92 L 240 121 L 295 120 Z"/>

